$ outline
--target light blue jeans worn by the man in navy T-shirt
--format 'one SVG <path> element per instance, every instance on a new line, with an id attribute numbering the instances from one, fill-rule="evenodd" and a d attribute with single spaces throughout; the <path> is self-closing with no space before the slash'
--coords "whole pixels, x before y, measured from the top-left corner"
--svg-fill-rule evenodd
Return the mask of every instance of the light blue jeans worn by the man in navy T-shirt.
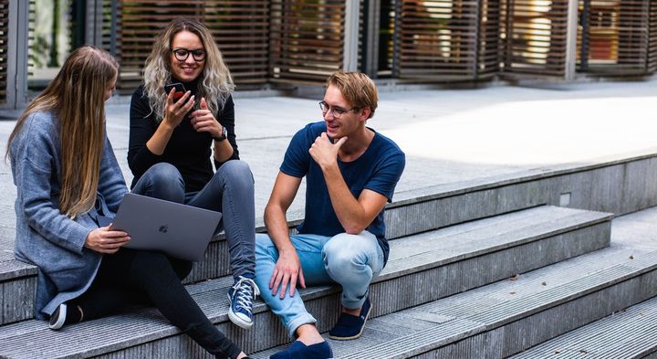
<path id="1" fill-rule="evenodd" d="M 371 281 L 383 269 L 383 250 L 374 235 L 362 231 L 358 235 L 341 233 L 334 237 L 324 237 L 303 234 L 291 236 L 290 239 L 297 249 L 307 287 L 337 283 L 342 286 L 340 302 L 345 308 L 362 306 Z M 297 292 L 290 297 L 287 289 L 283 299 L 280 299 L 280 290 L 272 295 L 269 280 L 276 260 L 278 250 L 271 238 L 266 234 L 256 234 L 255 283 L 260 288 L 262 299 L 278 315 L 289 335 L 294 337 L 300 325 L 315 323 L 317 320 L 306 311 Z"/>

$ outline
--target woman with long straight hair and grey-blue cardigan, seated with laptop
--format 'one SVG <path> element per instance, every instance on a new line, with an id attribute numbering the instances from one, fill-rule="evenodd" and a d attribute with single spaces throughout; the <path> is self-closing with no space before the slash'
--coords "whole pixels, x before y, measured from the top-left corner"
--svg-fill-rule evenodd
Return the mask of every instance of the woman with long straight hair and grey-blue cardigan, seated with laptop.
<path id="1" fill-rule="evenodd" d="M 76 49 L 9 137 L 16 258 L 38 267 L 35 316 L 58 330 L 152 303 L 208 352 L 245 358 L 184 289 L 188 263 L 121 248 L 129 234 L 105 226 L 128 192 L 105 132 L 117 69 L 102 49 Z"/>

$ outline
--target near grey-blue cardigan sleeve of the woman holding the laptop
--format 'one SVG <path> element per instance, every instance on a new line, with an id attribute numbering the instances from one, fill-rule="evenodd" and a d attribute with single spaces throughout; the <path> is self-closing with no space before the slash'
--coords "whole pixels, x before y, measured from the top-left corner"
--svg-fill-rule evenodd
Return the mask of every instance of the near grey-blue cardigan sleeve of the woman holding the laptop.
<path id="1" fill-rule="evenodd" d="M 39 128 L 33 121 L 23 132 L 26 132 L 26 137 L 16 147 L 12 146 L 12 165 L 18 188 L 16 206 L 21 206 L 27 225 L 41 237 L 81 254 L 91 228 L 59 211 L 58 189 L 51 185 L 53 176 L 57 176 L 57 156 L 53 153 L 57 144 L 52 133 Z"/>

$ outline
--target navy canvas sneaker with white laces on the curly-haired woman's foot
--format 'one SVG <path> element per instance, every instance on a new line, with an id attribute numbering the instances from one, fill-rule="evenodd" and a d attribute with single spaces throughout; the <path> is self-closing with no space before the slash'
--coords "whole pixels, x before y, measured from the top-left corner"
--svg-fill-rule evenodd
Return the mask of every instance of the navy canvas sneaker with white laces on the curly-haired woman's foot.
<path id="1" fill-rule="evenodd" d="M 228 318 L 240 328 L 250 329 L 253 325 L 253 301 L 260 294 L 255 281 L 242 276 L 237 277 L 233 287 L 228 289 L 230 309 Z"/>

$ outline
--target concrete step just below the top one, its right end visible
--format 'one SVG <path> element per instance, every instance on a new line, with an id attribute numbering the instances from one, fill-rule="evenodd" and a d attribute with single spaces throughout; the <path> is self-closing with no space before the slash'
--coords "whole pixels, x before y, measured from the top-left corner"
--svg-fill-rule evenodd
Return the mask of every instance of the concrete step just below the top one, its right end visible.
<path id="1" fill-rule="evenodd" d="M 371 287 L 372 317 L 605 248 L 610 219 L 609 214 L 540 206 L 391 241 L 389 264 Z M 251 331 L 228 322 L 225 290 L 231 281 L 228 277 L 207 280 L 189 285 L 188 290 L 211 321 L 247 353 L 287 343 L 286 331 L 260 300 Z M 318 318 L 320 330 L 328 330 L 338 316 L 328 309 L 339 307 L 339 289 L 324 286 L 300 293 L 308 311 Z M 0 357 L 7 358 L 203 355 L 152 309 L 71 325 L 58 333 L 36 321 L 0 327 Z"/>

